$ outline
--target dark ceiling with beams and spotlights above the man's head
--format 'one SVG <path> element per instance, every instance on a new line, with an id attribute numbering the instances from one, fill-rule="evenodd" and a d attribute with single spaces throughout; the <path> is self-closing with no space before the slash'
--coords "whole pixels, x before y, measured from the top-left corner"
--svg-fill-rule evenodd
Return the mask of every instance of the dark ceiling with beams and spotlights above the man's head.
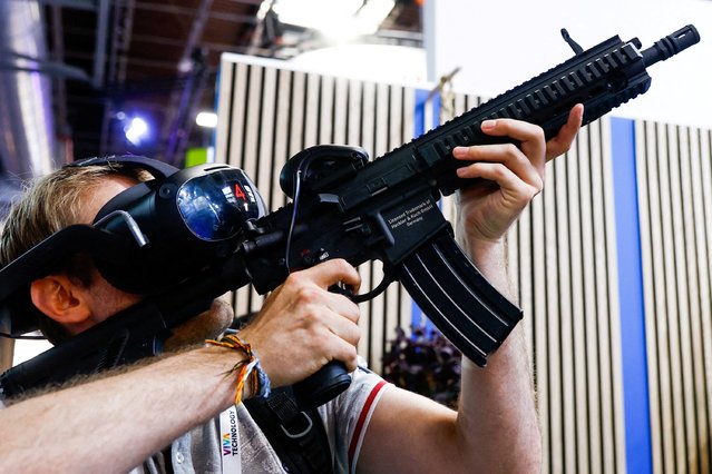
<path id="1" fill-rule="evenodd" d="M 195 115 L 214 109 L 222 52 L 286 59 L 323 43 L 314 31 L 259 14 L 271 1 L 40 3 L 50 58 L 87 76 L 52 79 L 57 136 L 74 158 L 140 152 L 181 165 L 186 147 L 205 146 L 208 139 L 195 126 Z M 379 32 L 360 41 L 420 46 L 419 4 L 397 1 Z M 147 116 L 156 130 L 140 147 L 123 132 L 121 118 L 134 112 Z"/>

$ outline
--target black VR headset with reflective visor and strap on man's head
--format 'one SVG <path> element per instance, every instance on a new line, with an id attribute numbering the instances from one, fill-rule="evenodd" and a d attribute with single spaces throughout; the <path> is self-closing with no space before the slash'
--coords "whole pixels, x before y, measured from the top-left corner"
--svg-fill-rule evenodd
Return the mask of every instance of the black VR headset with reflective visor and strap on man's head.
<path id="1" fill-rule="evenodd" d="M 61 229 L 0 270 L 0 328 L 13 337 L 38 329 L 33 280 L 57 273 L 69 257 L 89 255 L 115 287 L 150 295 L 231 255 L 265 206 L 238 168 L 207 164 L 177 169 L 146 157 L 90 158 L 69 167 L 120 165 L 154 179 L 110 199 L 91 225 Z"/>

